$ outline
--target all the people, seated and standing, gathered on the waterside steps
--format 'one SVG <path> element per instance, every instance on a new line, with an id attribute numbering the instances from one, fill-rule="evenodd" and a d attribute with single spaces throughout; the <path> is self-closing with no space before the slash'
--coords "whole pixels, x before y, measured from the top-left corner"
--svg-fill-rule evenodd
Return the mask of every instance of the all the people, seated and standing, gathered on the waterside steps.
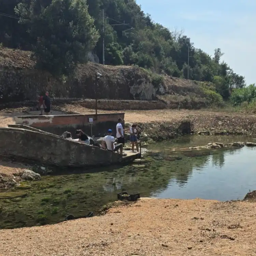
<path id="1" fill-rule="evenodd" d="M 103 138 L 101 145 L 95 144 L 93 138 L 89 137 L 82 130 L 75 131 L 75 134 L 78 137 L 78 139 L 73 139 L 71 136 L 71 133 L 67 131 L 62 134 L 62 137 L 67 140 L 77 141 L 87 145 L 99 146 L 105 150 L 109 150 L 109 151 L 124 155 L 123 154 L 123 147 L 125 145 L 124 132 L 129 131 L 130 141 L 132 144 L 132 152 L 134 152 L 134 146 L 136 146 L 136 150 L 137 152 L 139 152 L 137 135 L 139 134 L 140 129 L 137 127 L 136 124 L 133 124 L 131 127 L 124 129 L 122 123 L 123 123 L 123 119 L 119 118 L 118 123 L 116 125 L 116 139 L 112 136 L 112 130 L 109 129 L 107 135 Z"/>

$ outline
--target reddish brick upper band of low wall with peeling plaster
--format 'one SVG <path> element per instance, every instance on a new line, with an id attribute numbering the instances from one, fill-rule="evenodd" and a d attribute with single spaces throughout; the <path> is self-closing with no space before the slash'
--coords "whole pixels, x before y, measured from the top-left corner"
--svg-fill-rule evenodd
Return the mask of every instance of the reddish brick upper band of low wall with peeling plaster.
<path id="1" fill-rule="evenodd" d="M 20 125 L 28 125 L 36 128 L 47 127 L 81 127 L 89 125 L 89 118 L 92 117 L 94 122 L 93 126 L 99 123 L 116 122 L 119 117 L 125 117 L 125 113 L 109 113 L 89 115 L 55 115 L 55 116 L 16 116 L 15 123 Z"/>

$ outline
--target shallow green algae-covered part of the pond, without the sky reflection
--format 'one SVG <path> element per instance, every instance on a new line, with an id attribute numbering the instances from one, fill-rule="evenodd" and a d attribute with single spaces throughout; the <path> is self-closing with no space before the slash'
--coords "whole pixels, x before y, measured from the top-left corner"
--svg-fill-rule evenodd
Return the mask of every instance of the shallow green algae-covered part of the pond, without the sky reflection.
<path id="1" fill-rule="evenodd" d="M 181 143 L 181 147 L 186 143 Z M 202 145 L 207 143 L 202 142 Z M 183 186 L 193 168 L 208 164 L 209 154 L 173 151 L 173 145 L 176 147 L 176 144 L 169 147 L 162 143 L 154 144 L 153 153 L 148 152 L 144 159 L 130 165 L 95 168 L 89 173 L 88 170 L 85 170 L 87 173 L 79 170 L 42 176 L 40 181 L 23 182 L 19 187 L 4 191 L 0 193 L 0 227 L 54 224 L 63 221 L 68 214 L 83 216 L 90 211 L 97 214 L 101 212 L 102 205 L 116 201 L 120 191 L 129 194 L 139 192 L 142 197 L 150 197 L 167 188 L 170 180 Z M 218 150 L 211 157 L 222 163 L 223 151 Z"/>

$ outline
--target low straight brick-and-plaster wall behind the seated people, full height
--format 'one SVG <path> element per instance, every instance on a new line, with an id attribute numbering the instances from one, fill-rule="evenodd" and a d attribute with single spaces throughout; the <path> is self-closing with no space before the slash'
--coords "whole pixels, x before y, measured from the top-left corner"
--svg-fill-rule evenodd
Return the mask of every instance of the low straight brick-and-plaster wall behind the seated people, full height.
<path id="1" fill-rule="evenodd" d="M 82 129 L 85 133 L 92 136 L 103 136 L 108 129 L 113 130 L 113 136 L 116 135 L 116 124 L 118 118 L 124 119 L 125 113 L 108 114 L 88 114 L 88 115 L 49 115 L 49 116 L 16 116 L 17 125 L 27 125 L 61 135 L 69 131 L 74 136 L 76 129 Z M 89 118 L 93 118 L 93 124 L 89 124 Z M 92 132 L 92 134 L 91 134 Z"/>

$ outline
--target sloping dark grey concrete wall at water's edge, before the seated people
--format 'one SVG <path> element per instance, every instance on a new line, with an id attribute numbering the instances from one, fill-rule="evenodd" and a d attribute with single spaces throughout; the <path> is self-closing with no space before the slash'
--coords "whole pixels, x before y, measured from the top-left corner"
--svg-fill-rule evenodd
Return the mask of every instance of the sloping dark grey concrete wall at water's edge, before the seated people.
<path id="1" fill-rule="evenodd" d="M 0 128 L 0 155 L 59 167 L 101 166 L 122 160 L 120 155 L 99 147 L 19 128 Z"/>

